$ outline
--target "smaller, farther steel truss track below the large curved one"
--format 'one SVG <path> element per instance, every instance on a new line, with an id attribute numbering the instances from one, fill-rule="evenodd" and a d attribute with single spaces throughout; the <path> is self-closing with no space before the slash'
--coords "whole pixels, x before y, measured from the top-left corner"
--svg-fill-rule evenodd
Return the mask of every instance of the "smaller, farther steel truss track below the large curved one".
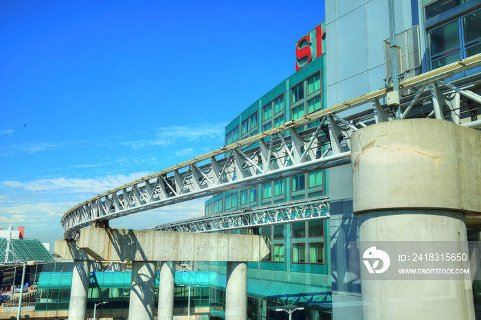
<path id="1" fill-rule="evenodd" d="M 166 223 L 147 230 L 213 232 L 329 218 L 327 196 Z"/>

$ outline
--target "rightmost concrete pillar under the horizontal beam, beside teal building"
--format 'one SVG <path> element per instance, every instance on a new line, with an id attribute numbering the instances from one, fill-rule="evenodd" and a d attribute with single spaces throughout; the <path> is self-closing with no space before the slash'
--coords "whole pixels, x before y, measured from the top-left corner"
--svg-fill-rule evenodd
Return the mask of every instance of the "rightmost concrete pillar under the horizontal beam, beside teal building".
<path id="1" fill-rule="evenodd" d="M 225 319 L 247 319 L 247 262 L 227 262 Z"/>

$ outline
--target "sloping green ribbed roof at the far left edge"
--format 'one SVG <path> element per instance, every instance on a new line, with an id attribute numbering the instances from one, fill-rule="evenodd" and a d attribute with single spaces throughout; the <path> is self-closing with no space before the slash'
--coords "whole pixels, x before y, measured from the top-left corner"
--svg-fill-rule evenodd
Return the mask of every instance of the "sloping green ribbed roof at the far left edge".
<path id="1" fill-rule="evenodd" d="M 54 261 L 54 257 L 48 252 L 47 248 L 37 239 L 12 239 L 10 240 L 10 250 L 14 251 L 14 255 L 9 253 L 8 262 L 27 261 Z M 5 261 L 8 238 L 0 238 L 0 263 Z"/>

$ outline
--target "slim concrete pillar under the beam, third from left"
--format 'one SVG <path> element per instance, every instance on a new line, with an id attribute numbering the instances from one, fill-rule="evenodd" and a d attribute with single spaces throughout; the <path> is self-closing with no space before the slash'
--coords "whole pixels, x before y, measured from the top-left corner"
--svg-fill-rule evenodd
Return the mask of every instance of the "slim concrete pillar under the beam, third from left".
<path id="1" fill-rule="evenodd" d="M 159 271 L 157 320 L 172 320 L 174 319 L 175 262 L 161 262 Z"/>

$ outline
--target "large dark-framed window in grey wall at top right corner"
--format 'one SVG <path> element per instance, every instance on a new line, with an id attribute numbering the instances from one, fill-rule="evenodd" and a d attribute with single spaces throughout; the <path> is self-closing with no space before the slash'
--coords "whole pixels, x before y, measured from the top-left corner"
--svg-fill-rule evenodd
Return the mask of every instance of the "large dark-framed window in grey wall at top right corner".
<path id="1" fill-rule="evenodd" d="M 481 10 L 429 30 L 432 69 L 481 52 Z"/>

